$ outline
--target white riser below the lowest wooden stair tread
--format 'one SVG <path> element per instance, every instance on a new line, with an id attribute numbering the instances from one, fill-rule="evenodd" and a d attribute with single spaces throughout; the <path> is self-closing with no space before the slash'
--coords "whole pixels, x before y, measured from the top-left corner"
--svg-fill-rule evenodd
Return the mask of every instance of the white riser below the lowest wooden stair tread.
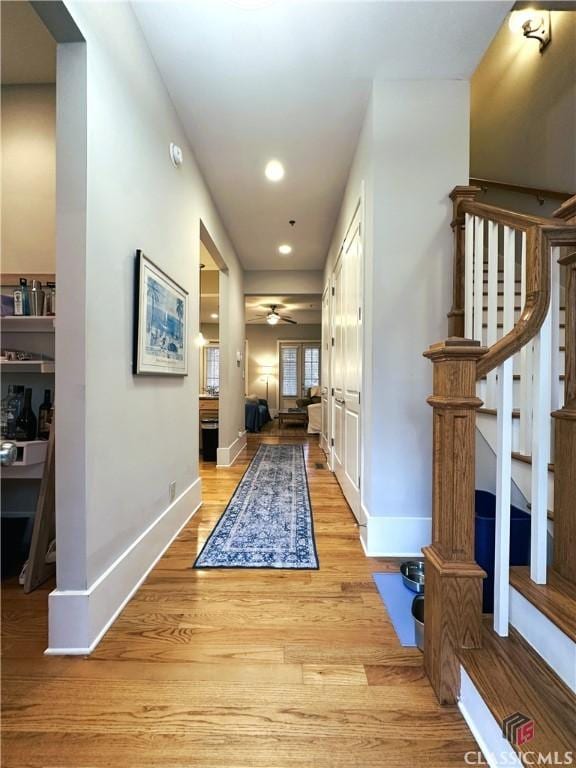
<path id="1" fill-rule="evenodd" d="M 460 667 L 460 699 L 458 708 L 490 768 L 522 766 L 511 745 L 502 736 L 502 726 L 494 718 L 478 689 Z M 464 765 L 482 765 L 476 753 L 462 755 Z"/>

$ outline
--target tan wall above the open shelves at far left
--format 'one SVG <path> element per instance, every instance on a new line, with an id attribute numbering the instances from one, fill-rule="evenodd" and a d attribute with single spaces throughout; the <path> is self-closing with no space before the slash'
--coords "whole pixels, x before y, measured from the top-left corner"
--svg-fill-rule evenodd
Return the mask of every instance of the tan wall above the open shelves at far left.
<path id="1" fill-rule="evenodd" d="M 56 269 L 56 89 L 2 86 L 2 271 Z"/>

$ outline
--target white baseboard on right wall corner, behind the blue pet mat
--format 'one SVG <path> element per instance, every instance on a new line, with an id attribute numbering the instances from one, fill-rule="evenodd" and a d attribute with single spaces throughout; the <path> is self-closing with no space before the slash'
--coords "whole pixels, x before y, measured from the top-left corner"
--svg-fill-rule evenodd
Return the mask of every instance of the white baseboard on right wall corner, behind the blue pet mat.
<path id="1" fill-rule="evenodd" d="M 430 543 L 430 517 L 387 517 L 371 515 L 361 507 L 365 528 L 360 540 L 367 557 L 422 557 L 422 547 Z"/>

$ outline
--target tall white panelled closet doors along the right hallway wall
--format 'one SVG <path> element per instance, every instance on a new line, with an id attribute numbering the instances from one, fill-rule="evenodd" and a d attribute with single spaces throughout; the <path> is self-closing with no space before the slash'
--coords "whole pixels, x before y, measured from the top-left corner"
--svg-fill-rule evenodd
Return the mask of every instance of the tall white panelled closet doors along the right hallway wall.
<path id="1" fill-rule="evenodd" d="M 362 380 L 362 241 L 360 207 L 334 272 L 333 469 L 346 500 L 360 519 Z"/>

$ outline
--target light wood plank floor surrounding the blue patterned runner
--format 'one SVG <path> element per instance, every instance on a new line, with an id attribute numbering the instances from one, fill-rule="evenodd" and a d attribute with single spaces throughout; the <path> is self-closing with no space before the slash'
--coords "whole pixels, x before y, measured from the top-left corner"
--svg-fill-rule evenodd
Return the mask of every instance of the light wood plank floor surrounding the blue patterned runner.
<path id="1" fill-rule="evenodd" d="M 319 571 L 194 571 L 261 440 L 304 442 Z M 476 750 L 402 649 L 301 428 L 202 467 L 204 506 L 95 653 L 48 658 L 48 588 L 3 600 L 3 768 L 450 768 Z"/>

